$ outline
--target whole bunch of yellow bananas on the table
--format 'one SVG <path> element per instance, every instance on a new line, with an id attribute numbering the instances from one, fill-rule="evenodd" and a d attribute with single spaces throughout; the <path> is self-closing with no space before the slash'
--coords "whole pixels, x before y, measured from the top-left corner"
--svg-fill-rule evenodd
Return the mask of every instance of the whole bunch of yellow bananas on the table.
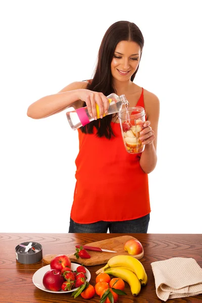
<path id="1" fill-rule="evenodd" d="M 112 257 L 106 266 L 96 271 L 96 274 L 103 272 L 126 281 L 130 285 L 134 296 L 140 292 L 141 285 L 145 286 L 147 283 L 147 275 L 143 265 L 131 256 L 118 255 Z"/>

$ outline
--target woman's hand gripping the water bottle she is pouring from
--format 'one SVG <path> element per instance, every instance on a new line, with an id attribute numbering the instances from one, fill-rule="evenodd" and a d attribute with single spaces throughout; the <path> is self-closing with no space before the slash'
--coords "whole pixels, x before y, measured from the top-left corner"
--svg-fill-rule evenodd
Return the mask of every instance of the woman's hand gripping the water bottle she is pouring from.
<path id="1" fill-rule="evenodd" d="M 78 89 L 78 96 L 80 100 L 86 103 L 89 115 L 94 117 L 95 120 L 97 120 L 96 104 L 99 107 L 100 118 L 103 118 L 103 115 L 107 114 L 110 103 L 102 92 Z"/>

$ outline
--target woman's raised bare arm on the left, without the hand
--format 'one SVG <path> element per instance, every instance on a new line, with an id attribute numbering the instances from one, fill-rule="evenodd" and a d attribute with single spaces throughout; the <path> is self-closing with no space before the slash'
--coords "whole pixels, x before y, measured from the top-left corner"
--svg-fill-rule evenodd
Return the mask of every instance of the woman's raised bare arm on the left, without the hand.
<path id="1" fill-rule="evenodd" d="M 74 109 L 82 107 L 83 102 L 79 100 L 79 95 L 86 86 L 87 82 L 73 82 L 56 94 L 40 98 L 29 106 L 27 116 L 41 119 L 64 111 L 68 107 Z"/>

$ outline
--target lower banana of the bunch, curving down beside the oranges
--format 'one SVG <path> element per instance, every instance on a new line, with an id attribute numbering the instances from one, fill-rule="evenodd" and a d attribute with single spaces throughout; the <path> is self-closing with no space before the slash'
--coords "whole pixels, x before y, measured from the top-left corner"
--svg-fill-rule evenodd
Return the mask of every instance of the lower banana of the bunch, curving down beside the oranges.
<path id="1" fill-rule="evenodd" d="M 138 295 L 138 293 L 140 292 L 141 284 L 137 276 L 130 270 L 121 267 L 109 267 L 108 269 L 106 269 L 105 273 L 126 281 L 130 285 L 131 292 L 134 296 Z"/>

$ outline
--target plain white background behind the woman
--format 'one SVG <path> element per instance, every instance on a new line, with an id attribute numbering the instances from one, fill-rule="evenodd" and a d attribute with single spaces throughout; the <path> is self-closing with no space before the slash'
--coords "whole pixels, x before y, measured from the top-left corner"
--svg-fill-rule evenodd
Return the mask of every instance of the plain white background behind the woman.
<path id="1" fill-rule="evenodd" d="M 65 111 L 41 120 L 26 112 L 42 96 L 91 78 L 100 42 L 120 20 L 136 23 L 145 39 L 134 82 L 161 102 L 148 232 L 202 232 L 199 3 L 1 2 L 0 232 L 68 232 L 77 131 Z"/>

